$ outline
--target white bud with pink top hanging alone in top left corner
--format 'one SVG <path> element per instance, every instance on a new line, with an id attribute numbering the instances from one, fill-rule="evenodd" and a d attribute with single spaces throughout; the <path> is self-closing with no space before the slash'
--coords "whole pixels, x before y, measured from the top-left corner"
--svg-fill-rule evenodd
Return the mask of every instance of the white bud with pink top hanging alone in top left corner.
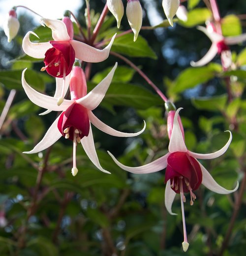
<path id="1" fill-rule="evenodd" d="M 8 37 L 8 42 L 17 35 L 20 28 L 19 20 L 17 19 L 17 14 L 15 9 L 11 9 L 8 13 L 8 19 L 3 25 L 4 33 Z"/>

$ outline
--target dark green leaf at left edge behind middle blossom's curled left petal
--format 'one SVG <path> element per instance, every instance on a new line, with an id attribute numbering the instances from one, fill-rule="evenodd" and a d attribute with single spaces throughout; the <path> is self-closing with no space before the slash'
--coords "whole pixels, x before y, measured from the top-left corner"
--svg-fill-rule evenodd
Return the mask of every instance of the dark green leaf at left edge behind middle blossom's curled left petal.
<path id="1" fill-rule="evenodd" d="M 0 83 L 6 86 L 8 89 L 23 90 L 21 84 L 22 70 L 1 70 L 0 71 Z M 42 75 L 33 70 L 27 70 L 25 73 L 25 79 L 31 87 L 44 91 L 44 81 Z"/>

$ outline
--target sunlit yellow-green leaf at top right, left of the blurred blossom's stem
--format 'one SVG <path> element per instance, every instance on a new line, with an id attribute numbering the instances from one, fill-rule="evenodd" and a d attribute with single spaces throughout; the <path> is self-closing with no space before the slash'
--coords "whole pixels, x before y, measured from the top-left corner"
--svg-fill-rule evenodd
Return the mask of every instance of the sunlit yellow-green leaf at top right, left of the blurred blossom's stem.
<path id="1" fill-rule="evenodd" d="M 188 12 L 187 21 L 179 20 L 179 23 L 187 28 L 194 27 L 199 24 L 204 24 L 206 20 L 211 18 L 211 12 L 207 8 L 196 8 Z"/>

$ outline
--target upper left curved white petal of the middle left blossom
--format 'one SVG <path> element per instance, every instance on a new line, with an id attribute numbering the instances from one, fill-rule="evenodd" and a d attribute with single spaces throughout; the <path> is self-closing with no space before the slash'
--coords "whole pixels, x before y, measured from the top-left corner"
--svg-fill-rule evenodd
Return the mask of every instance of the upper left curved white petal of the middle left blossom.
<path id="1" fill-rule="evenodd" d="M 45 108 L 48 110 L 54 110 L 54 111 L 62 111 L 66 110 L 72 103 L 73 101 L 69 100 L 64 100 L 61 106 L 57 105 L 57 99 L 50 97 L 48 95 L 44 95 L 42 93 L 37 92 L 31 86 L 26 82 L 25 80 L 25 72 L 27 69 L 25 69 L 22 72 L 22 86 L 28 96 L 28 98 L 37 106 L 41 108 Z"/>

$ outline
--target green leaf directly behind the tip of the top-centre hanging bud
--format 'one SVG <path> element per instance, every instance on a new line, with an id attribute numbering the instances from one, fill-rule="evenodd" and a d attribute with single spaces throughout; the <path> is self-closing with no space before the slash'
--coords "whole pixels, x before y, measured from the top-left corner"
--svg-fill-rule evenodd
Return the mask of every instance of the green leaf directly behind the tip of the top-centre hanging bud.
<path id="1" fill-rule="evenodd" d="M 157 59 L 156 54 L 148 45 L 147 40 L 140 35 L 138 35 L 135 42 L 133 42 L 133 34 L 126 34 L 122 37 L 115 38 L 111 50 L 129 57 L 149 57 L 154 60 Z"/>

